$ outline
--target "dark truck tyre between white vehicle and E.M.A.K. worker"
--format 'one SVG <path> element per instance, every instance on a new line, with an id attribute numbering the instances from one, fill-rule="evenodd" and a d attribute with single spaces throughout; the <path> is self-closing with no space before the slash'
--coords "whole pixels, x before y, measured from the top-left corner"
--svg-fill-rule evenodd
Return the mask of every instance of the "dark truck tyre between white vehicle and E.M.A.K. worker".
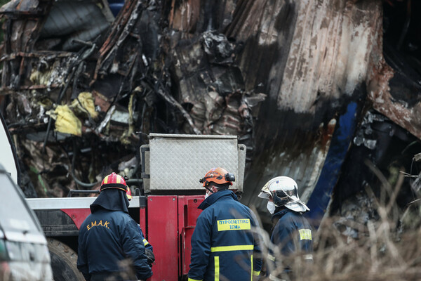
<path id="1" fill-rule="evenodd" d="M 72 248 L 58 240 L 48 238 L 48 250 L 54 281 L 85 280 L 76 267 L 77 254 Z"/>

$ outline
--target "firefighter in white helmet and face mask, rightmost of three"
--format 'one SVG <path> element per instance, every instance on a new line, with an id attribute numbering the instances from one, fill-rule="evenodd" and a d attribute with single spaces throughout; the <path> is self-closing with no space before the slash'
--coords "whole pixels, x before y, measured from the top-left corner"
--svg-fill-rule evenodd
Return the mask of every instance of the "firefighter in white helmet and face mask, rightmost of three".
<path id="1" fill-rule="evenodd" d="M 312 227 L 302 213 L 309 211 L 309 208 L 298 197 L 298 185 L 288 176 L 277 176 L 263 186 L 259 197 L 269 200 L 267 209 L 272 215 L 271 242 L 278 247 L 278 252 L 269 247 L 269 260 L 273 263 L 269 266 L 272 271 L 276 266 L 282 266 L 277 273 L 288 273 L 289 277 L 294 275 L 281 257 L 288 257 L 291 254 L 299 253 L 302 260 L 313 261 Z M 302 270 L 300 270 L 302 271 Z M 270 280 L 276 280 L 279 274 L 269 275 Z M 282 275 L 282 274 L 281 274 Z M 297 274 L 295 274 L 295 278 Z"/>

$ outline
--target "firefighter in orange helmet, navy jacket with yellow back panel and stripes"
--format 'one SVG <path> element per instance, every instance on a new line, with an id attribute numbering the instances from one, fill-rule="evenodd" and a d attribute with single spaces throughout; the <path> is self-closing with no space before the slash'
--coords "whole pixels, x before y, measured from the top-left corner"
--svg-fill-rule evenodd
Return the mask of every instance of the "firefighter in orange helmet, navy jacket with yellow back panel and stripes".
<path id="1" fill-rule="evenodd" d="M 200 180 L 208 191 L 192 235 L 189 281 L 251 280 L 260 274 L 258 221 L 228 190 L 232 181 L 234 175 L 222 168 L 210 169 Z"/>

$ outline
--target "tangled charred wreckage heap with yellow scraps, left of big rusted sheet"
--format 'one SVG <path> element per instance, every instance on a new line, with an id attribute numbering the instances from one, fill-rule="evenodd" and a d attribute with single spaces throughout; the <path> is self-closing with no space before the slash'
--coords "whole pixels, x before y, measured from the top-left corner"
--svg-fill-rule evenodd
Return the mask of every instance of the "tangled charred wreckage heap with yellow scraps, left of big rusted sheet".
<path id="1" fill-rule="evenodd" d="M 175 44 L 156 4 L 127 1 L 115 19 L 107 1 L 1 8 L 1 110 L 27 196 L 93 188 L 111 170 L 137 178 L 149 132 L 251 139 L 265 95 L 244 90 L 236 46 L 215 32 Z"/>

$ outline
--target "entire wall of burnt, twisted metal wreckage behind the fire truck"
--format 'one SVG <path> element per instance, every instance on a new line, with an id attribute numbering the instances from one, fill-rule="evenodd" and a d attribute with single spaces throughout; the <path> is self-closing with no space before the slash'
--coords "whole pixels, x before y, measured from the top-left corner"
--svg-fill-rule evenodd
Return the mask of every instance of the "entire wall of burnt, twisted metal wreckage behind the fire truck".
<path id="1" fill-rule="evenodd" d="M 138 178 L 149 132 L 232 134 L 248 147 L 243 203 L 264 210 L 258 190 L 286 175 L 315 226 L 328 207 L 375 218 L 366 159 L 396 183 L 421 150 L 417 25 L 395 17 L 418 7 L 405 2 L 138 0 L 114 18 L 105 0 L 13 0 L 0 110 L 20 185 L 61 197 L 110 170 Z M 410 191 L 406 179 L 401 209 Z"/>

